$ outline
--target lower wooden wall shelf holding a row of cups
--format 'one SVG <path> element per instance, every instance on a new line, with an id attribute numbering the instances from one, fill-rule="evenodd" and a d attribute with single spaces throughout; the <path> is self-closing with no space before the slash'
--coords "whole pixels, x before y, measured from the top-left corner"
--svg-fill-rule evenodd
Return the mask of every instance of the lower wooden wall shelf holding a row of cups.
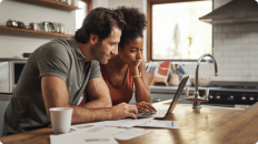
<path id="1" fill-rule="evenodd" d="M 37 35 L 37 37 L 48 37 L 48 38 L 69 38 L 71 34 L 63 34 L 57 32 L 44 32 L 44 31 L 34 31 L 21 28 L 12 28 L 0 25 L 0 31 L 11 32 L 11 33 L 19 33 L 19 34 L 27 34 L 27 35 Z"/>

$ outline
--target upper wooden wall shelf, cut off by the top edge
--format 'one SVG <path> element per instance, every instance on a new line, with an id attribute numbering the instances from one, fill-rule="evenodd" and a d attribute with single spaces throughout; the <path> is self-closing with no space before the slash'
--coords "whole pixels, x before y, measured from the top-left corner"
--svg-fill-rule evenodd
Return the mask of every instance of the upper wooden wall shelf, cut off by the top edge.
<path id="1" fill-rule="evenodd" d="M 39 6 L 44 6 L 44 7 L 50 7 L 50 8 L 61 9 L 61 10 L 67 10 L 67 11 L 73 11 L 73 10 L 80 9 L 78 7 L 69 6 L 67 3 L 62 3 L 62 2 L 58 2 L 53 0 L 18 0 L 18 1 L 24 1 L 29 3 L 34 3 Z"/>

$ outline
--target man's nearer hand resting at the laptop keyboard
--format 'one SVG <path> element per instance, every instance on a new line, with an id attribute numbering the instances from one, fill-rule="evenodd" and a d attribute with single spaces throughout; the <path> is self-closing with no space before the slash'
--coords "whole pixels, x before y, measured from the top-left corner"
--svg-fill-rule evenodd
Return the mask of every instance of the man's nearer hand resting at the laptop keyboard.
<path id="1" fill-rule="evenodd" d="M 137 119 L 137 107 L 136 105 L 120 103 L 118 105 L 112 106 L 111 109 L 112 120 L 120 120 L 125 117 L 133 117 Z"/>

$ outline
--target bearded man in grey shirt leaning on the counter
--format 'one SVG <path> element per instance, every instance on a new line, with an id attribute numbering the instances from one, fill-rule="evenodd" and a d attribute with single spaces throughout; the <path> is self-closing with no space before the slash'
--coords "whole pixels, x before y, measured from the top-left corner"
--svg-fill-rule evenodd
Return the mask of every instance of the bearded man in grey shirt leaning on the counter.
<path id="1" fill-rule="evenodd" d="M 72 124 L 136 119 L 133 105 L 121 103 L 111 107 L 99 70 L 99 62 L 106 64 L 117 54 L 125 24 L 121 12 L 97 8 L 86 17 L 75 38 L 56 39 L 38 48 L 6 110 L 3 135 L 48 126 L 50 107 L 72 107 Z M 77 106 L 83 90 L 91 102 Z"/>

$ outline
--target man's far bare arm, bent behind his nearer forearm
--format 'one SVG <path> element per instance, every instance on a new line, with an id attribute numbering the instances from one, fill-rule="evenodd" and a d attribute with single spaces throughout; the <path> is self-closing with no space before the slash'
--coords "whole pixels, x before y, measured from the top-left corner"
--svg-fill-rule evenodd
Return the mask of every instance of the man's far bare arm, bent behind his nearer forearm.
<path id="1" fill-rule="evenodd" d="M 83 106 L 96 109 L 96 107 L 111 107 L 111 99 L 109 94 L 108 86 L 102 78 L 95 78 L 89 80 L 85 92 L 85 102 L 86 93 L 90 96 L 90 102 L 87 102 Z"/>

